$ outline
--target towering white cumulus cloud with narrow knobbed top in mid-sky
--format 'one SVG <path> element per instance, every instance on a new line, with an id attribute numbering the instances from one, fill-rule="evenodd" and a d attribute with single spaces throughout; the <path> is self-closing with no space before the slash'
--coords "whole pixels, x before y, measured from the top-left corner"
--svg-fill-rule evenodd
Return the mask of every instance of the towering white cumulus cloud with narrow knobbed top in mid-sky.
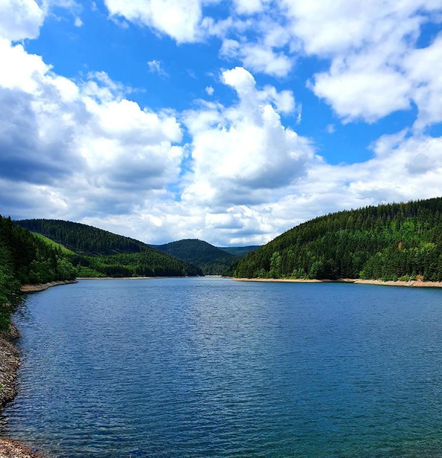
<path id="1" fill-rule="evenodd" d="M 292 108 L 291 93 L 257 89 L 253 76 L 242 67 L 224 71 L 221 80 L 238 94 L 239 103 L 208 104 L 186 113 L 194 179 L 183 198 L 223 204 L 260 202 L 268 194 L 265 190 L 302 177 L 313 151 L 306 138 L 281 124 L 278 111 Z"/>

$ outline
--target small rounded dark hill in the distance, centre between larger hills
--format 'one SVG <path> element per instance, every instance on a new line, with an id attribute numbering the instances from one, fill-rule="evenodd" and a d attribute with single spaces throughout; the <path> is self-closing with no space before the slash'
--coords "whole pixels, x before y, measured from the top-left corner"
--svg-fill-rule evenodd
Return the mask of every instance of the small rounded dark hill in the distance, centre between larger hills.
<path id="1" fill-rule="evenodd" d="M 198 266 L 205 275 L 223 275 L 232 263 L 240 259 L 234 254 L 198 239 L 183 239 L 155 245 L 155 247 L 186 263 Z"/>

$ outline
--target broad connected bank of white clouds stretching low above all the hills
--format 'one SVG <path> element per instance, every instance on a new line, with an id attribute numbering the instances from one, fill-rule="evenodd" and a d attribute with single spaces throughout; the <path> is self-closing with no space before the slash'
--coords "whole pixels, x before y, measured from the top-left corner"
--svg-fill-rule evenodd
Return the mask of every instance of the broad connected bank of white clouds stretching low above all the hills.
<path id="1" fill-rule="evenodd" d="M 222 246 L 264 243 L 333 210 L 440 194 L 442 138 L 404 130 L 380 137 L 368 161 L 328 164 L 282 125 L 293 95 L 257 88 L 244 68 L 221 77 L 238 103 L 201 101 L 183 114 L 192 138 L 183 175 L 182 129 L 170 112 L 141 109 L 105 73 L 74 83 L 21 45 L 0 44 L 3 213 Z"/>

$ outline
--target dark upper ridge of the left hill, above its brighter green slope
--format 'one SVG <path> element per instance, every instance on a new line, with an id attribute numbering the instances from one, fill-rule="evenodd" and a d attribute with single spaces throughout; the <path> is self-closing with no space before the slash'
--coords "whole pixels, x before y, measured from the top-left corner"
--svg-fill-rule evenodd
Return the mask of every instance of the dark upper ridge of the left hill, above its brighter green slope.
<path id="1" fill-rule="evenodd" d="M 22 219 L 15 222 L 28 231 L 44 235 L 79 254 L 139 253 L 149 247 L 139 240 L 72 221 Z"/>

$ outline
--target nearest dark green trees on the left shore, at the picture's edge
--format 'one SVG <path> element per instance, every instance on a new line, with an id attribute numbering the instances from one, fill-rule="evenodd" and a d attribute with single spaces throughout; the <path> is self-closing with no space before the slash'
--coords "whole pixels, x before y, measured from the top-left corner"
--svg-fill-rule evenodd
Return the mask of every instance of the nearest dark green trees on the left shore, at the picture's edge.
<path id="1" fill-rule="evenodd" d="M 76 269 L 61 250 L 0 215 L 0 332 L 7 330 L 11 305 L 24 283 L 71 280 Z"/>

